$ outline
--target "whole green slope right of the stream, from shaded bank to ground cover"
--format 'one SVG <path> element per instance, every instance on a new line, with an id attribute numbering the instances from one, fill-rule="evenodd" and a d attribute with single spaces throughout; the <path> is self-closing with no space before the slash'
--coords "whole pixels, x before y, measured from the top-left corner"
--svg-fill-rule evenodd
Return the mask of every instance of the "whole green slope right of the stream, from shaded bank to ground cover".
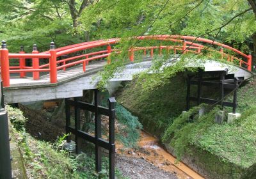
<path id="1" fill-rule="evenodd" d="M 136 81 L 125 87 L 118 102 L 137 114 L 143 127 L 160 137 L 170 152 L 205 177 L 241 178 L 254 168 L 256 78 L 238 91 L 240 120 L 221 125 L 214 123 L 215 114 L 220 110 L 218 107 L 209 107 L 200 118 L 200 107 L 181 114 L 186 104 L 186 83 L 182 74 L 153 91 L 141 89 Z M 230 111 L 228 108 L 224 110 Z M 191 114 L 193 120 L 189 119 Z"/>

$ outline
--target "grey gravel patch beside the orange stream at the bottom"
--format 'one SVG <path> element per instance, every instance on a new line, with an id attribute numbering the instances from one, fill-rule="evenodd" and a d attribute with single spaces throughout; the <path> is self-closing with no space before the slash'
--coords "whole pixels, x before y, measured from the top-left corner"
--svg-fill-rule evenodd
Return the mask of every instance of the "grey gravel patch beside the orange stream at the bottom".
<path id="1" fill-rule="evenodd" d="M 177 179 L 175 174 L 163 171 L 144 159 L 124 155 L 116 156 L 116 167 L 122 171 L 124 176 L 131 179 Z"/>

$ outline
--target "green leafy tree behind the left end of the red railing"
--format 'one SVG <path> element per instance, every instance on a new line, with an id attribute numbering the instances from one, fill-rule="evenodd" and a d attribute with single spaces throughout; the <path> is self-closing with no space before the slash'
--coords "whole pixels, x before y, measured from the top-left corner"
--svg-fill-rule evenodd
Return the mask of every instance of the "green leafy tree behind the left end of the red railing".
<path id="1" fill-rule="evenodd" d="M 76 33 L 77 18 L 86 6 L 93 1 L 74 0 L 1 0 L 0 1 L 0 35 L 8 40 L 10 51 L 19 51 L 24 45 L 32 50 L 33 43 L 38 49 L 49 49 L 54 41 L 57 46 L 84 41 Z"/>

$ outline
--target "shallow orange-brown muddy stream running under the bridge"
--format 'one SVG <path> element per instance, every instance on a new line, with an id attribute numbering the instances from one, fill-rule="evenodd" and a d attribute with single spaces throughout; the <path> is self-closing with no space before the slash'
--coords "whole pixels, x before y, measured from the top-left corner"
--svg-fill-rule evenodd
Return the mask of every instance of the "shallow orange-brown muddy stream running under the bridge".
<path id="1" fill-rule="evenodd" d="M 155 137 L 150 136 L 146 132 L 141 131 L 138 146 L 139 149 L 124 149 L 122 145 L 116 144 L 116 152 L 126 155 L 127 157 L 145 159 L 164 171 L 175 173 L 175 175 L 180 179 L 204 178 L 182 162 L 177 162 L 175 157 L 157 144 L 157 139 Z"/>

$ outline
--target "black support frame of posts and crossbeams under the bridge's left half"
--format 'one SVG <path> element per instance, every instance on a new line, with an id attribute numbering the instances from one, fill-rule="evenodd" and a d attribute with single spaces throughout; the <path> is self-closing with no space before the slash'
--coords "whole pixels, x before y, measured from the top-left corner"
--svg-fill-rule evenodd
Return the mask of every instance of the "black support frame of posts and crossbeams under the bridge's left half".
<path id="1" fill-rule="evenodd" d="M 102 148 L 109 151 L 109 178 L 115 178 L 115 98 L 109 98 L 108 108 L 99 106 L 99 91 L 94 91 L 94 104 L 79 101 L 79 98 L 65 99 L 66 102 L 66 132 L 76 136 L 76 152 L 81 152 L 80 139 L 95 144 L 95 169 L 102 169 Z M 70 106 L 75 107 L 75 128 L 70 126 Z M 95 113 L 95 136 L 83 132 L 80 128 L 80 109 Z M 109 141 L 101 138 L 101 114 L 109 117 Z M 78 148 L 77 148 L 78 146 Z"/>

